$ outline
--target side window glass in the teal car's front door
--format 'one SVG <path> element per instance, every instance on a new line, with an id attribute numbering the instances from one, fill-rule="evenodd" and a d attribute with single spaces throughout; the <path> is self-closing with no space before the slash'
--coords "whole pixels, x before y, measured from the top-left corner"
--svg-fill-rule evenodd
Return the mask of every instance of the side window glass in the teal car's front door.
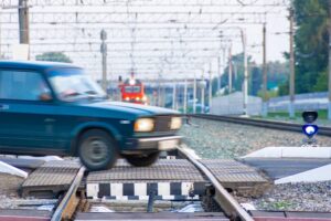
<path id="1" fill-rule="evenodd" d="M 41 95 L 50 94 L 40 73 L 23 71 L 0 71 L 0 98 L 40 101 Z"/>

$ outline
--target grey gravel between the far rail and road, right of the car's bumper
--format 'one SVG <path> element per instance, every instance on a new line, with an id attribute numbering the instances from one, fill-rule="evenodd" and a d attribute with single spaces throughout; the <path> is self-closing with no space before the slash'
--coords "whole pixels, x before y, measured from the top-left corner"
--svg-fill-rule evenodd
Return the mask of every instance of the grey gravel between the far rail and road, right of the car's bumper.
<path id="1" fill-rule="evenodd" d="M 264 147 L 301 146 L 303 134 L 282 131 L 210 119 L 192 119 L 181 134 L 184 143 L 202 158 L 232 159 Z M 331 138 L 317 136 L 319 146 L 331 146 Z"/>

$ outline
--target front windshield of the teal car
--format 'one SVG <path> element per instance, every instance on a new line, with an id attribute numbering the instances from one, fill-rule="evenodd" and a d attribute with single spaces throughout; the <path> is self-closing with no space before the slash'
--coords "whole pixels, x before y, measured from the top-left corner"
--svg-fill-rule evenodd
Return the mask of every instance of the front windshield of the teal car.
<path id="1" fill-rule="evenodd" d="M 81 69 L 56 69 L 50 72 L 50 82 L 62 101 L 102 98 L 106 93 Z"/>

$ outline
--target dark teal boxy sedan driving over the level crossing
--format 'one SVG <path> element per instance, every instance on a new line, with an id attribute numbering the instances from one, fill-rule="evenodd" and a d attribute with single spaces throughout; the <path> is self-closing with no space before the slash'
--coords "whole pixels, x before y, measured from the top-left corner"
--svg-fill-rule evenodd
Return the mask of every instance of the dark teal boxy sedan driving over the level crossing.
<path id="1" fill-rule="evenodd" d="M 110 102 L 81 67 L 0 61 L 0 154 L 78 156 L 88 170 L 119 156 L 149 166 L 180 144 L 181 124 L 178 112 Z"/>

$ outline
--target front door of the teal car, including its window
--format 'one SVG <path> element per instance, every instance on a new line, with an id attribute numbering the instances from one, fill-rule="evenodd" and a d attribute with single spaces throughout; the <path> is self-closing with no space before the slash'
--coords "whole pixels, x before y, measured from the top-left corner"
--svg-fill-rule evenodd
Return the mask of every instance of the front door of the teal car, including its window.
<path id="1" fill-rule="evenodd" d="M 50 88 L 41 73 L 0 70 L 0 152 L 53 152 L 57 108 L 42 101 L 46 94 Z"/>

